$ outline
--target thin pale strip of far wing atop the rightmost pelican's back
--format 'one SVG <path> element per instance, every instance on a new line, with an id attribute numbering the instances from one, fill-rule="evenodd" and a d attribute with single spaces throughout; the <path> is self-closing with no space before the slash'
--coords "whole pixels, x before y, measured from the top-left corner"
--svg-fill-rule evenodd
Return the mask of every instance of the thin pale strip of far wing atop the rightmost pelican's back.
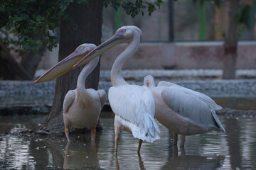
<path id="1" fill-rule="evenodd" d="M 157 86 L 169 86 L 173 89 L 176 89 L 177 91 L 183 91 L 183 93 L 188 94 L 188 96 L 193 96 L 193 97 L 198 98 L 199 100 L 205 102 L 213 110 L 220 110 L 221 109 L 221 106 L 216 104 L 215 101 L 213 101 L 212 98 L 210 98 L 206 94 L 202 94 L 198 91 L 193 91 L 193 90 L 188 89 L 186 87 L 179 86 L 177 84 L 173 84 L 173 83 L 170 83 L 170 82 L 167 82 L 167 81 L 160 81 Z"/>

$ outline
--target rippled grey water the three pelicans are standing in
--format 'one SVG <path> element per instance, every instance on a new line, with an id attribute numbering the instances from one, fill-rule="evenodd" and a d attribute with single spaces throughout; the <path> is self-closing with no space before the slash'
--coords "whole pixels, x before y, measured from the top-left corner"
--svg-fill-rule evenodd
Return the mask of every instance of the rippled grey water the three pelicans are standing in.
<path id="1" fill-rule="evenodd" d="M 111 113 L 102 113 L 102 115 Z M 37 129 L 46 115 L 12 115 L 0 118 L 0 132 Z M 90 142 L 90 134 L 65 137 L 0 137 L 0 169 L 256 169 L 256 120 L 221 118 L 226 134 L 186 137 L 184 148 L 171 145 L 171 131 L 159 125 L 161 139 L 144 142 L 122 133 L 114 155 L 113 118 L 104 116 L 104 132 Z M 64 152 L 65 149 L 68 152 Z"/>

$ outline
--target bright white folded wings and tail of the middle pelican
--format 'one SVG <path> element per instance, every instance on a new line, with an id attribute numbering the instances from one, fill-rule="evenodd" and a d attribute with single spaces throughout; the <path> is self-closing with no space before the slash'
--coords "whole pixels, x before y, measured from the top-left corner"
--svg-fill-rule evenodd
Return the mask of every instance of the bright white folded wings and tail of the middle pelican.
<path id="1" fill-rule="evenodd" d="M 143 131 L 142 133 L 153 138 L 159 137 L 159 128 L 154 120 L 154 96 L 148 87 L 112 86 L 108 96 L 110 106 L 115 114 L 139 127 Z"/>

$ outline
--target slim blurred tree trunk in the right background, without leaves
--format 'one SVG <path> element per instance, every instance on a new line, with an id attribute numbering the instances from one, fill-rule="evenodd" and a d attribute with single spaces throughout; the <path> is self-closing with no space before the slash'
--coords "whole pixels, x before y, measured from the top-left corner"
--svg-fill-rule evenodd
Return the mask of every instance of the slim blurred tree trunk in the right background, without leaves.
<path id="1" fill-rule="evenodd" d="M 224 37 L 223 79 L 235 79 L 235 67 L 238 56 L 238 21 L 235 21 L 235 12 L 239 2 L 230 0 L 228 11 L 228 26 Z"/>

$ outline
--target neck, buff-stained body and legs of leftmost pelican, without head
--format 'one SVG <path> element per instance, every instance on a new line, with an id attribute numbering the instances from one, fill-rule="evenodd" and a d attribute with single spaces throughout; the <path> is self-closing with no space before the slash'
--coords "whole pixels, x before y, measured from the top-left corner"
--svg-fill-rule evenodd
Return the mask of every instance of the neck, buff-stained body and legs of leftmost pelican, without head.
<path id="1" fill-rule="evenodd" d="M 85 89 L 85 79 L 96 67 L 99 57 L 86 64 L 78 76 L 77 88 L 66 94 L 63 102 L 63 120 L 65 135 L 69 140 L 69 127 L 91 128 L 91 140 L 95 140 L 96 127 L 100 112 L 104 106 L 106 92 L 104 90 Z"/>

